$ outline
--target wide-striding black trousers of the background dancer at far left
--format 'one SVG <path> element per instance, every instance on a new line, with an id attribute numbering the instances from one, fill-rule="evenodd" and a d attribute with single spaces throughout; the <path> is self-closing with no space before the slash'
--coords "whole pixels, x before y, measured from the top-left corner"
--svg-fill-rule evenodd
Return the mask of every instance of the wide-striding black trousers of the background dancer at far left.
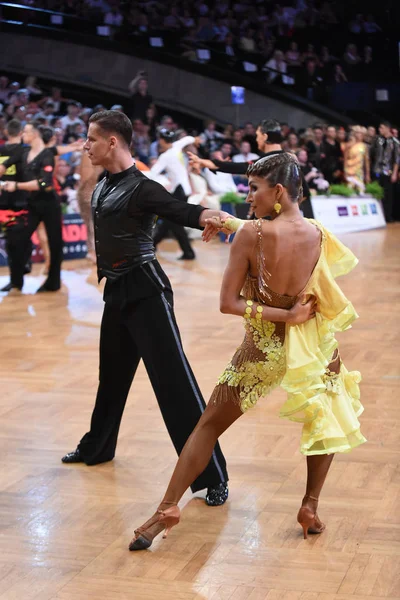
<path id="1" fill-rule="evenodd" d="M 26 225 L 15 232 L 10 229 L 7 233 L 11 283 L 22 287 L 25 265 L 32 250 L 31 236 L 42 221 L 46 227 L 50 248 L 49 274 L 43 285 L 50 290 L 58 290 L 61 286 L 63 255 L 62 214 L 60 202 L 52 192 L 34 196 L 29 204 Z"/>

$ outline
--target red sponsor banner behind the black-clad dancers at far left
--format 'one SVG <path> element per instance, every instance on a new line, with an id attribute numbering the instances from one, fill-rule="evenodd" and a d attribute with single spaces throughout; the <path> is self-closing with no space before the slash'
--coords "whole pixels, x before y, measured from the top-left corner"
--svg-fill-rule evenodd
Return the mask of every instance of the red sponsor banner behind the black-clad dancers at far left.
<path id="1" fill-rule="evenodd" d="M 87 252 L 87 231 L 79 214 L 63 215 L 63 260 L 85 258 Z M 43 254 L 39 246 L 38 235 L 32 236 L 32 262 L 43 262 Z M 0 239 L 0 266 L 7 265 L 5 239 Z"/>

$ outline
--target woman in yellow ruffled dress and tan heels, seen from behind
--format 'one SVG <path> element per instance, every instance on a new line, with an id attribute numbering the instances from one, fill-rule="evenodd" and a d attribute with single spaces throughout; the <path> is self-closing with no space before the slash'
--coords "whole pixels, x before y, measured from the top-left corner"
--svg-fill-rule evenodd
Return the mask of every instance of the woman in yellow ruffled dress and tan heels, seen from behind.
<path id="1" fill-rule="evenodd" d="M 350 327 L 357 314 L 334 278 L 358 261 L 322 225 L 303 218 L 301 174 L 292 154 L 259 160 L 248 177 L 247 201 L 258 220 L 229 219 L 224 225 L 210 223 L 205 231 L 208 240 L 218 225 L 238 229 L 223 278 L 221 312 L 244 315 L 245 338 L 186 442 L 157 512 L 135 531 L 130 550 L 148 548 L 179 522 L 177 504 L 219 436 L 278 385 L 288 392 L 281 416 L 304 423 L 301 452 L 308 476 L 297 519 L 305 538 L 325 529 L 317 503 L 334 454 L 366 441 L 357 419 L 361 377 L 348 373 L 335 340 L 335 332 Z M 271 221 L 262 219 L 267 215 Z M 292 307 L 303 295 L 313 304 L 317 300 L 318 312 L 298 324 L 314 314 L 311 308 L 309 315 L 293 318 Z"/>

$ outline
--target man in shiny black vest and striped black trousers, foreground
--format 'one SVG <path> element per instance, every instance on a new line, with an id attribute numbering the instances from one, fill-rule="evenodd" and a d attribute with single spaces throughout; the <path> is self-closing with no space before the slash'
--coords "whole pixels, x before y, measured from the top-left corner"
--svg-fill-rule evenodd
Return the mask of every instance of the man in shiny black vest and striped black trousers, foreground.
<path id="1" fill-rule="evenodd" d="M 201 229 L 219 211 L 180 202 L 135 167 L 132 125 L 119 111 L 89 119 L 85 150 L 107 176 L 92 198 L 98 277 L 106 277 L 100 332 L 100 382 L 90 431 L 63 462 L 94 465 L 112 460 L 126 399 L 143 359 L 165 424 L 178 453 L 205 403 L 184 354 L 170 282 L 155 258 L 155 215 Z M 225 215 L 225 213 L 222 213 Z M 228 475 L 219 445 L 193 491 L 208 487 L 206 502 L 223 504 Z"/>

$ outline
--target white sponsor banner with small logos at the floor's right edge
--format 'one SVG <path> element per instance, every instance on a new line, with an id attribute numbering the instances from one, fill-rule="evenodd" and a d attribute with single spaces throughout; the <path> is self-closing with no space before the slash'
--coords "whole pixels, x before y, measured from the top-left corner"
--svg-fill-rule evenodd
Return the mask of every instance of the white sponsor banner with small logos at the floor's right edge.
<path id="1" fill-rule="evenodd" d="M 381 203 L 372 196 L 311 196 L 314 217 L 332 233 L 386 227 Z"/>

